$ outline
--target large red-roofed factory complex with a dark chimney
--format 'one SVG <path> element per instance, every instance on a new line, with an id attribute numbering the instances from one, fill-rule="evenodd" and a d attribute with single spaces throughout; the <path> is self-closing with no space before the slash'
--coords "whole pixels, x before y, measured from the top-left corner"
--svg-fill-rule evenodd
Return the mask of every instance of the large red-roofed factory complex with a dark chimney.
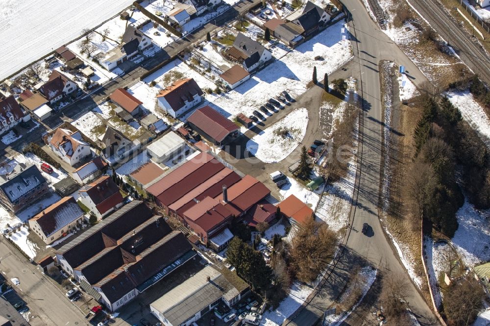
<path id="1" fill-rule="evenodd" d="M 206 152 L 172 169 L 147 191 L 205 245 L 270 195 L 264 184 L 249 175 L 242 178 Z"/>

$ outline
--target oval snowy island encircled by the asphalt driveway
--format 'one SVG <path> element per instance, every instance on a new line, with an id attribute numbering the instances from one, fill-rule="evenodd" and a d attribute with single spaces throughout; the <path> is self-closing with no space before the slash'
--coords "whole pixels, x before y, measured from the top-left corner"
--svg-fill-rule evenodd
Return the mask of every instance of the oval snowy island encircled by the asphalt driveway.
<path id="1" fill-rule="evenodd" d="M 303 140 L 308 126 L 308 110 L 299 108 L 248 140 L 247 150 L 265 163 L 284 160 Z M 278 135 L 287 131 L 286 136 Z"/>

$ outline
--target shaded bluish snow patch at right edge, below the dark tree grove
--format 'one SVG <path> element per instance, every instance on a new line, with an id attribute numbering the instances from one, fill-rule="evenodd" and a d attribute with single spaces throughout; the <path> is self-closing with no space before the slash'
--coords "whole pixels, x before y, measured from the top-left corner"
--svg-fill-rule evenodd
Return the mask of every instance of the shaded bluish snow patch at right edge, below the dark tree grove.
<path id="1" fill-rule="evenodd" d="M 452 243 L 461 255 L 466 267 L 473 267 L 480 262 L 490 260 L 490 210 L 475 210 L 465 201 L 456 213 L 458 230 Z"/>

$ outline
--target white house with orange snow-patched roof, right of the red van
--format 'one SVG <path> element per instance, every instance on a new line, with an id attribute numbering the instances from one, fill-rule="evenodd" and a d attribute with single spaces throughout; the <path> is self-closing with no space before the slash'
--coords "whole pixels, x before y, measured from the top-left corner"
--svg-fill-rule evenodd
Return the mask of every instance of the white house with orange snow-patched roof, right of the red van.
<path id="1" fill-rule="evenodd" d="M 82 139 L 82 134 L 68 129 L 58 128 L 49 138 L 49 147 L 63 161 L 75 165 L 88 156 L 92 156 L 90 145 Z"/>

